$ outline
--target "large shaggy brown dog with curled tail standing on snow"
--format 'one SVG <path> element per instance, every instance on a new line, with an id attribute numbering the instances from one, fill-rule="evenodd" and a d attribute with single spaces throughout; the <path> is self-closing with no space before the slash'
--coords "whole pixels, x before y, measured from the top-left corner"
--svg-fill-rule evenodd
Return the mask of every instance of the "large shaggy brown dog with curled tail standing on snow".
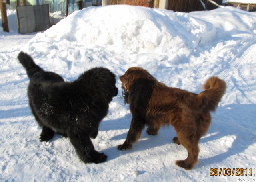
<path id="1" fill-rule="evenodd" d="M 161 125 L 172 125 L 177 132 L 173 141 L 188 150 L 188 157 L 177 160 L 176 165 L 193 168 L 198 162 L 199 140 L 210 126 L 210 111 L 218 106 L 226 83 L 211 77 L 204 84 L 204 91 L 194 94 L 168 87 L 140 67 L 129 68 L 119 78 L 125 91 L 125 102 L 130 104 L 132 121 L 126 140 L 118 145 L 118 149 L 132 149 L 145 125 L 148 125 L 149 135 L 156 135 Z"/>

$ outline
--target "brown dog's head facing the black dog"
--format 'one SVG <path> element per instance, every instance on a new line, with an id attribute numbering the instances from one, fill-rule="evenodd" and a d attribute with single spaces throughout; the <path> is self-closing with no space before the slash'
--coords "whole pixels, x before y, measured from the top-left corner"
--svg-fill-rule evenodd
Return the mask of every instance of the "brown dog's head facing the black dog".
<path id="1" fill-rule="evenodd" d="M 131 67 L 126 70 L 125 74 L 119 77 L 120 81 L 122 82 L 122 89 L 124 89 L 125 92 L 129 92 L 133 81 L 139 78 L 148 78 L 155 80 L 155 78 L 146 70 L 140 67 Z"/>

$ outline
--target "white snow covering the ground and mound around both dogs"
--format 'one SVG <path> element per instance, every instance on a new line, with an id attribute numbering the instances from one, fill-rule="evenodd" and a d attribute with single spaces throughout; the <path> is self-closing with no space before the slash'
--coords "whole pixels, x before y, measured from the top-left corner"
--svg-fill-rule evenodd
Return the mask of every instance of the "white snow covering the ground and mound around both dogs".
<path id="1" fill-rule="evenodd" d="M 76 11 L 44 32 L 17 32 L 0 27 L 0 181 L 256 180 L 256 13 L 232 7 L 181 13 L 102 6 Z M 69 139 L 59 135 L 41 143 L 41 129 L 28 106 L 28 77 L 16 59 L 21 50 L 66 81 L 100 66 L 117 78 L 129 67 L 143 67 L 160 82 L 195 93 L 210 76 L 224 79 L 226 94 L 200 140 L 199 163 L 192 170 L 175 165 L 187 153 L 172 143 L 171 126 L 156 136 L 144 130 L 132 150 L 116 149 L 131 120 L 118 79 L 118 96 L 92 140 L 108 155 L 107 162 L 80 162 Z M 252 176 L 210 176 L 211 168 L 251 168 Z"/>

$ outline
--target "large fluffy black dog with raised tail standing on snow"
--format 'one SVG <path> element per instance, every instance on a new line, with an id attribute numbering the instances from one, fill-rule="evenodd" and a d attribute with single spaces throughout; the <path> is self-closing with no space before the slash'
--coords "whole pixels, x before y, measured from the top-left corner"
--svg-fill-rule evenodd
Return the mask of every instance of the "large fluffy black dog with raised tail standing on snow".
<path id="1" fill-rule="evenodd" d="M 104 153 L 94 150 L 90 137 L 98 135 L 108 104 L 118 94 L 116 76 L 106 68 L 92 68 L 74 82 L 64 82 L 58 74 L 36 65 L 28 54 L 20 52 L 18 59 L 30 78 L 28 99 L 42 126 L 40 141 L 49 141 L 57 131 L 70 138 L 83 162 L 106 161 Z"/>

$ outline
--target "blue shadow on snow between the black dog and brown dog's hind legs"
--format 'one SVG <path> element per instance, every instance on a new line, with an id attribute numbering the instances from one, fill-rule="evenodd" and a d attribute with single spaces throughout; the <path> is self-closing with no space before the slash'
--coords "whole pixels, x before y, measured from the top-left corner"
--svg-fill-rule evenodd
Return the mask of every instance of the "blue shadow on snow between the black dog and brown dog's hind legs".
<path id="1" fill-rule="evenodd" d="M 131 153 L 136 153 L 140 151 L 145 151 L 148 149 L 154 149 L 155 147 L 160 147 L 166 144 L 176 145 L 172 142 L 172 138 L 176 136 L 176 132 L 171 126 L 162 127 L 158 135 L 148 135 L 146 132 L 147 126 L 141 133 L 141 137 L 138 142 L 134 143 L 133 149 L 128 149 L 126 151 L 120 151 L 117 149 L 117 145 L 122 144 L 126 139 L 126 135 L 128 133 L 128 129 L 130 128 L 130 121 L 132 119 L 132 115 L 130 113 L 126 114 L 124 117 L 115 119 L 115 120 L 107 120 L 103 121 L 100 124 L 99 131 L 109 131 L 112 130 L 116 133 L 120 133 L 120 130 L 125 130 L 121 134 L 114 135 L 110 137 L 110 141 L 112 143 L 116 143 L 113 147 L 108 147 L 103 150 L 106 155 L 108 155 L 108 161 L 116 159 L 122 155 L 128 155 Z M 175 150 L 175 149 L 174 149 Z"/>

